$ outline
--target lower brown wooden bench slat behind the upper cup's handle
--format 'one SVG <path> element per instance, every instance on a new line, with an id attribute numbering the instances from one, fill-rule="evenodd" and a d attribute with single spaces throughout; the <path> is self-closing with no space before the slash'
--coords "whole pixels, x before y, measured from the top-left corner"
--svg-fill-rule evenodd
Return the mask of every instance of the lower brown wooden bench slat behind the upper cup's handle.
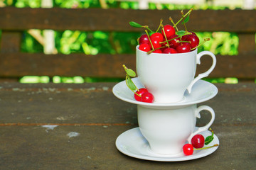
<path id="1" fill-rule="evenodd" d="M 211 64 L 210 57 L 202 57 L 198 73 L 205 72 Z M 122 64 L 135 69 L 135 55 L 43 55 L 26 53 L 0 54 L 0 77 L 82 76 L 124 77 Z M 254 53 L 238 56 L 217 56 L 217 64 L 209 77 L 256 77 Z"/>

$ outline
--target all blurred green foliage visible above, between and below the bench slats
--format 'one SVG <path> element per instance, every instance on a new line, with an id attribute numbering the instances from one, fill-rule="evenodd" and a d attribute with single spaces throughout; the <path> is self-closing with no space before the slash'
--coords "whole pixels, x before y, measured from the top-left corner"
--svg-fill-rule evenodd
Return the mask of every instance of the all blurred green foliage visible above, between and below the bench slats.
<path id="1" fill-rule="evenodd" d="M 41 7 L 41 0 L 0 0 L 6 6 L 15 6 L 18 8 Z M 102 4 L 98 0 L 54 0 L 54 7 L 60 8 L 102 8 Z M 132 1 L 114 1 L 105 0 L 105 8 L 139 8 L 138 2 Z M 149 4 L 149 9 L 225 9 L 228 6 L 210 6 L 208 4 L 201 5 L 174 5 L 174 4 Z M 41 34 L 43 30 L 41 30 Z M 84 52 L 87 55 L 97 55 L 98 53 L 122 54 L 134 53 L 137 45 L 137 38 L 144 33 L 144 30 L 137 33 L 124 32 L 83 32 L 80 30 L 55 31 L 55 47 L 59 53 L 70 54 L 73 52 Z M 238 54 L 238 36 L 235 33 L 223 32 L 203 32 L 196 33 L 199 39 L 210 38 L 205 42 L 198 51 L 208 50 L 215 55 L 237 55 Z M 1 31 L 0 31 L 1 36 Z M 43 52 L 43 46 L 32 35 L 27 32 L 23 33 L 21 45 L 22 52 Z M 225 79 L 207 79 L 212 82 L 225 82 Z M 23 77 L 21 82 L 42 82 L 47 83 L 53 81 L 55 83 L 83 83 L 95 81 L 120 81 L 120 79 L 96 79 L 92 77 Z M 230 82 L 236 82 L 233 79 Z"/>

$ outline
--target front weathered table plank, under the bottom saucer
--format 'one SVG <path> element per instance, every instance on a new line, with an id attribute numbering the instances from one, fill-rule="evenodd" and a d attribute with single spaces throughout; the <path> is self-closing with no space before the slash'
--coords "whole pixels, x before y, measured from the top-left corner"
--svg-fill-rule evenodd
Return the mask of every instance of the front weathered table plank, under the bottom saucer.
<path id="1" fill-rule="evenodd" d="M 188 162 L 151 162 L 117 150 L 117 137 L 129 126 L 1 127 L 0 169 L 254 169 L 255 126 L 214 125 L 219 148 Z M 70 137 L 73 132 L 73 137 Z M 241 144 L 241 145 L 238 145 Z"/>

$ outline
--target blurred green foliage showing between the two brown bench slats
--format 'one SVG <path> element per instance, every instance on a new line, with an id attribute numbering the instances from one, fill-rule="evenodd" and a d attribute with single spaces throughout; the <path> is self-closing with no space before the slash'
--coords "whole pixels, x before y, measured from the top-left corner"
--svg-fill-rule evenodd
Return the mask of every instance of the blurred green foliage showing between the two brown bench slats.
<path id="1" fill-rule="evenodd" d="M 59 53 L 70 54 L 72 52 L 84 52 L 86 55 L 98 53 L 129 54 L 134 53 L 137 38 L 143 32 L 82 32 L 79 30 L 55 31 L 55 47 Z M 237 55 L 238 35 L 228 32 L 203 32 L 196 33 L 201 42 L 204 38 L 210 38 L 198 51 L 208 50 L 215 55 Z M 22 52 L 43 52 L 43 46 L 28 33 L 23 33 L 21 46 Z"/>

